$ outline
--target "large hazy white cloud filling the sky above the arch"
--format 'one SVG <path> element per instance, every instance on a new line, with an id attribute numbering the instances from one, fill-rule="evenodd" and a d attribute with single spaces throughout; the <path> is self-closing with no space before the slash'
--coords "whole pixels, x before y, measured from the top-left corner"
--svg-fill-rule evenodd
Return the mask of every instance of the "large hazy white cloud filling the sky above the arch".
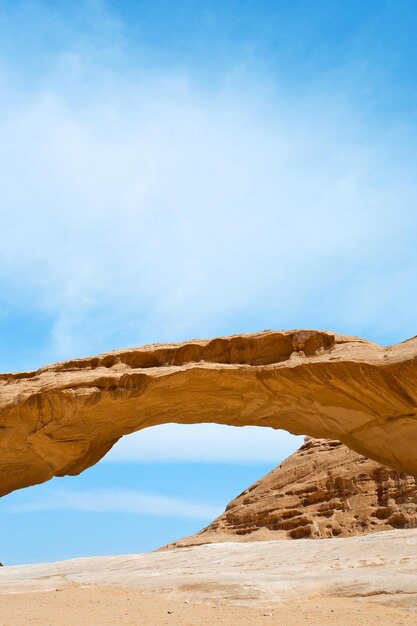
<path id="1" fill-rule="evenodd" d="M 77 42 L 49 65 L 23 91 L 6 73 L 0 105 L 0 286 L 52 319 L 39 361 L 271 327 L 413 333 L 407 129 L 323 86 L 116 76 Z"/>

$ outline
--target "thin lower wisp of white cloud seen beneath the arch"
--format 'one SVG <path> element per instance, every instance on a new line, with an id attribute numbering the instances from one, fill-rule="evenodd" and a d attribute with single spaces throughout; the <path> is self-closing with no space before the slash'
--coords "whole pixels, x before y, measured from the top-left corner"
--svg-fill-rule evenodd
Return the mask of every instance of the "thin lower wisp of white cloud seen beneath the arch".
<path id="1" fill-rule="evenodd" d="M 163 517 L 211 520 L 223 511 L 221 505 L 188 502 L 132 489 L 92 489 L 51 491 L 35 500 L 9 505 L 10 513 L 36 511 L 86 511 L 93 513 L 132 513 Z"/>

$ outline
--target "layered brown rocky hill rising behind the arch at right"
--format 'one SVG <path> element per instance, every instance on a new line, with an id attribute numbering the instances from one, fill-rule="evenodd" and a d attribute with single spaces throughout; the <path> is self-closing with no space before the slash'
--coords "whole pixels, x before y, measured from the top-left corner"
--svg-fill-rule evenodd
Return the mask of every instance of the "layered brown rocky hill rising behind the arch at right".
<path id="1" fill-rule="evenodd" d="M 310 438 L 202 531 L 167 547 L 219 541 L 349 537 L 417 527 L 417 484 L 350 450 Z"/>

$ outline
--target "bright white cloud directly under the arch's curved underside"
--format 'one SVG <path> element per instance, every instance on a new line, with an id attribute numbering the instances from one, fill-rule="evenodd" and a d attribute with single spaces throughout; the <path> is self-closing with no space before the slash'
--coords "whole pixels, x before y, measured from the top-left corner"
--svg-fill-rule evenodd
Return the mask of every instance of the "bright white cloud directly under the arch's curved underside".
<path id="1" fill-rule="evenodd" d="M 275 463 L 303 442 L 283 430 L 217 424 L 164 424 L 123 437 L 104 462 Z"/>

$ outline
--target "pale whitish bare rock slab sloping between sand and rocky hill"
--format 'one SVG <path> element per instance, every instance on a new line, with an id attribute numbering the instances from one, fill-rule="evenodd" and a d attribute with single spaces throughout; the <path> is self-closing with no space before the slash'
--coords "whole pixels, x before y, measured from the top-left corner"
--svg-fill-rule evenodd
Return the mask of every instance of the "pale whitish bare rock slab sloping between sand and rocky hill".
<path id="1" fill-rule="evenodd" d="M 146 594 L 158 594 L 186 602 L 236 603 L 265 606 L 291 602 L 293 610 L 302 610 L 300 601 L 323 597 L 363 598 L 366 601 L 390 602 L 394 606 L 417 608 L 417 529 L 374 533 L 350 539 L 323 541 L 253 541 L 217 543 L 186 549 L 71 559 L 58 563 L 18 565 L 0 570 L 0 603 L 4 617 L 4 593 L 48 591 L 99 587 L 125 587 Z M 110 594 L 110 589 L 108 590 Z M 27 596 L 26 596 L 27 597 Z M 27 601 L 27 600 L 26 600 Z M 55 599 L 55 602 L 57 600 Z M 108 598 L 108 603 L 111 598 Z M 295 605 L 294 605 L 295 603 Z M 92 604 L 92 603 L 91 603 Z M 106 601 L 107 604 L 107 601 Z M 93 605 L 97 605 L 94 603 Z M 128 611 L 130 603 L 124 610 Z M 65 610 L 65 609 L 64 609 Z M 123 611 L 124 612 L 124 611 Z M 78 611 L 71 614 L 72 625 L 101 624 L 97 619 L 81 621 Z M 136 623 L 147 624 L 136 615 Z M 303 614 L 303 613 L 302 613 Z M 336 613 L 335 613 L 336 615 Z M 75 617 L 76 616 L 76 617 Z M 390 617 L 384 614 L 380 626 L 416 624 L 415 614 L 405 622 L 406 613 Z M 179 624 L 172 616 L 161 616 L 158 624 Z M 192 616 L 183 624 L 194 624 Z M 13 624 L 55 624 L 31 616 Z M 74 619 L 75 618 L 75 619 Z M 78 622 L 75 620 L 78 619 Z M 58 622 L 59 623 L 59 622 Z M 106 622 L 109 623 L 109 622 Z M 124 622 L 115 622 L 124 623 Z M 155 623 L 155 622 L 151 622 Z M 206 624 L 218 624 L 207 618 Z M 231 624 L 239 622 L 231 621 Z M 254 623 L 244 619 L 242 624 Z M 288 624 L 288 621 L 261 619 L 257 624 Z M 306 615 L 299 624 L 321 624 Z M 337 619 L 326 623 L 339 624 Z M 352 626 L 371 623 L 355 611 Z"/>

